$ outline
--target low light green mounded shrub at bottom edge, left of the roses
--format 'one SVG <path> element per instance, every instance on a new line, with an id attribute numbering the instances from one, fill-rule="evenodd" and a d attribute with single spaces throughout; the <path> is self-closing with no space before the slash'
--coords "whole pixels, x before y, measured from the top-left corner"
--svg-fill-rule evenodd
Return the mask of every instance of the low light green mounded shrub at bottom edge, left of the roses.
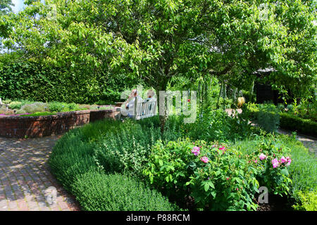
<path id="1" fill-rule="evenodd" d="M 87 172 L 77 176 L 73 193 L 88 211 L 172 211 L 178 207 L 137 178 Z"/>

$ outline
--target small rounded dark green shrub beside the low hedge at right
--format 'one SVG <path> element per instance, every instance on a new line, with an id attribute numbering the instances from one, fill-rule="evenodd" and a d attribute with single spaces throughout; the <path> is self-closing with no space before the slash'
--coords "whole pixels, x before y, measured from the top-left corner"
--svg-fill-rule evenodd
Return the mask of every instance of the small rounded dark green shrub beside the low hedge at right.
<path id="1" fill-rule="evenodd" d="M 256 113 L 256 123 L 268 132 L 277 131 L 280 124 L 280 115 L 273 104 L 260 104 Z"/>

